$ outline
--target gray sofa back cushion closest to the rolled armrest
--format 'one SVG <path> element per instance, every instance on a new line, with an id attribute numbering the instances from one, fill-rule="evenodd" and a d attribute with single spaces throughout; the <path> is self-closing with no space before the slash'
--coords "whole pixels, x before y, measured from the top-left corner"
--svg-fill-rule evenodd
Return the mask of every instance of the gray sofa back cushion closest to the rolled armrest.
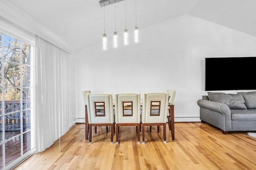
<path id="1" fill-rule="evenodd" d="M 208 92 L 209 100 L 228 105 L 230 109 L 247 109 L 242 94 Z"/>

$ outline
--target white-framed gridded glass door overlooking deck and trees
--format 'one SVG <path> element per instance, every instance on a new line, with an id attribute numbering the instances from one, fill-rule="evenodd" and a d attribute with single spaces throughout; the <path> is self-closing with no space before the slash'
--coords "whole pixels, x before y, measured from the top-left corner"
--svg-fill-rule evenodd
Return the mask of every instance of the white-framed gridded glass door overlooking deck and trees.
<path id="1" fill-rule="evenodd" d="M 0 33 L 0 169 L 34 149 L 33 53 Z"/>

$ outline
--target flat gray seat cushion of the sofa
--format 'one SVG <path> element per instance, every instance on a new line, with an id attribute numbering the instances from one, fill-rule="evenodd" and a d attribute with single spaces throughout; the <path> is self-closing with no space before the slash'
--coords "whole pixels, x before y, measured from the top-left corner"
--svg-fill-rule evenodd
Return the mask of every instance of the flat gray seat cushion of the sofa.
<path id="1" fill-rule="evenodd" d="M 231 120 L 232 121 L 255 121 L 256 111 L 252 110 L 241 110 L 231 109 Z"/>

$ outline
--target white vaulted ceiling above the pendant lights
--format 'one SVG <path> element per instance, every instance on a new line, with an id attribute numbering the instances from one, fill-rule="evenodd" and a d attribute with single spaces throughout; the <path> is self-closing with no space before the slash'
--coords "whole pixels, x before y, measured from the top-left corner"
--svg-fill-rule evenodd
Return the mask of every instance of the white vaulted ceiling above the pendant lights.
<path id="1" fill-rule="evenodd" d="M 100 43 L 104 33 L 104 16 L 105 32 L 111 39 L 115 30 L 115 14 L 116 31 L 120 35 L 125 25 L 132 31 L 136 21 L 139 29 L 143 29 L 189 14 L 256 36 L 256 0 L 123 0 L 105 6 L 105 15 L 99 0 L 1 2 L 5 5 L 2 10 L 13 15 L 11 20 L 14 17 L 21 20 L 19 25 L 22 27 L 38 29 L 70 50 Z"/>

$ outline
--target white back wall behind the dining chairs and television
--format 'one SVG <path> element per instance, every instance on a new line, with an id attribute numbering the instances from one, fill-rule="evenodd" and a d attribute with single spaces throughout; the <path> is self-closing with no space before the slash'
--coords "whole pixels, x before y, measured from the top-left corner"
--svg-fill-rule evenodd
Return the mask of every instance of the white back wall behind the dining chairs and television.
<path id="1" fill-rule="evenodd" d="M 140 29 L 138 44 L 130 33 L 130 45 L 122 45 L 118 31 L 118 49 L 108 34 L 107 51 L 98 44 L 74 55 L 76 118 L 84 118 L 84 90 L 143 94 L 170 89 L 176 90 L 175 121 L 200 121 L 197 100 L 207 94 L 204 58 L 256 56 L 256 37 L 190 15 Z"/>

